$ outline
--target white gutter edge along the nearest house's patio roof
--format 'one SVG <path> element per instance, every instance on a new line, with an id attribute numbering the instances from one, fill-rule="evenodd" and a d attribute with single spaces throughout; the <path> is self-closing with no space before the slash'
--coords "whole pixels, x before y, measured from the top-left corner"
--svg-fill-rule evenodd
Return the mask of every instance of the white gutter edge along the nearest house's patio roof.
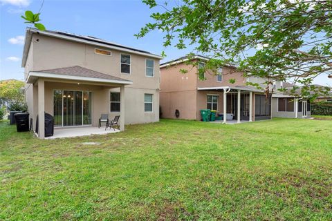
<path id="1" fill-rule="evenodd" d="M 33 72 L 33 71 L 29 73 L 27 81 L 29 80 L 30 77 L 45 77 L 53 79 L 68 79 L 75 81 L 91 81 L 91 82 L 111 83 L 111 84 L 133 84 L 133 81 L 126 81 L 126 80 L 104 79 L 104 78 L 95 78 L 95 77 L 78 77 L 72 75 L 56 75 L 56 74 Z"/>

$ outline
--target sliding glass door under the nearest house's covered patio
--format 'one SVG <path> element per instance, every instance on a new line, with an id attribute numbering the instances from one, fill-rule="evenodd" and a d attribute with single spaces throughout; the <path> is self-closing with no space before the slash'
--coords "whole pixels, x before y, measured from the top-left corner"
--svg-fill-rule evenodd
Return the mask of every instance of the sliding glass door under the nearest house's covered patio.
<path id="1" fill-rule="evenodd" d="M 53 115 L 55 126 L 92 124 L 92 92 L 54 90 Z"/>

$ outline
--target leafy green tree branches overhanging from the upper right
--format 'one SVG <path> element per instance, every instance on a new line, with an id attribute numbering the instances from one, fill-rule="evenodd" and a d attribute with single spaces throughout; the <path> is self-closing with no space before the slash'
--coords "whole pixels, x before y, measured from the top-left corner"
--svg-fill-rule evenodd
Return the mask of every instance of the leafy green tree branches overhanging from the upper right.
<path id="1" fill-rule="evenodd" d="M 211 57 L 206 68 L 237 66 L 267 84 L 291 79 L 309 85 L 318 75 L 331 74 L 331 0 L 143 2 L 163 12 L 153 13 L 154 22 L 136 36 L 161 30 L 164 46 L 194 46 Z"/>

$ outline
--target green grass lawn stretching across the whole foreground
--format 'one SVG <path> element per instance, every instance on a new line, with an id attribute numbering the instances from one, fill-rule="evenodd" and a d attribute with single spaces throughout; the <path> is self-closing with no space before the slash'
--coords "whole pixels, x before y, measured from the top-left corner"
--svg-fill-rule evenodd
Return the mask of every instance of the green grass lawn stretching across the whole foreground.
<path id="1" fill-rule="evenodd" d="M 162 120 L 37 140 L 1 122 L 0 220 L 332 220 L 331 128 Z"/>

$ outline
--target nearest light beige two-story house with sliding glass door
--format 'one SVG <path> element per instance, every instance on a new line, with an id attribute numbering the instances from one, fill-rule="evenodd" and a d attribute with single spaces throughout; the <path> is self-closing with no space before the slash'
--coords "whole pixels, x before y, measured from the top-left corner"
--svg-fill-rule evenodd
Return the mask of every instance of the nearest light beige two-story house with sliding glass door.
<path id="1" fill-rule="evenodd" d="M 44 113 L 55 126 L 98 126 L 102 113 L 124 124 L 158 122 L 159 55 L 95 37 L 27 28 L 22 67 L 39 137 Z"/>

